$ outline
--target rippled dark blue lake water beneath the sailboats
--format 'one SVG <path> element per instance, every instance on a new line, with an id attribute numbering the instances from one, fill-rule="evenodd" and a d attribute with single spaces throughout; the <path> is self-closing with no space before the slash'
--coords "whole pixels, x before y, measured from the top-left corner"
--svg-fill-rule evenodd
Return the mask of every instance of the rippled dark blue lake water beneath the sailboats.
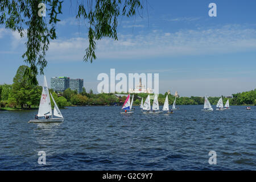
<path id="1" fill-rule="evenodd" d="M 67 107 L 64 122 L 51 124 L 28 123 L 37 110 L 0 111 L 0 170 L 256 170 L 256 106 L 179 107 L 169 115 Z"/>

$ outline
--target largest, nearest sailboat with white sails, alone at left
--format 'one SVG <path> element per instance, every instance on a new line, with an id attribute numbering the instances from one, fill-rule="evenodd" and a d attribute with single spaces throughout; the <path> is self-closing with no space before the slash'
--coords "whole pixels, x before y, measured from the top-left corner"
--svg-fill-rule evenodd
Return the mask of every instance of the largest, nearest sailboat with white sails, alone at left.
<path id="1" fill-rule="evenodd" d="M 52 97 L 52 94 L 51 94 L 51 97 Z M 53 118 L 51 98 L 49 97 L 49 90 L 48 90 L 48 86 L 47 86 L 46 76 L 44 76 L 43 91 L 42 91 L 42 96 L 41 96 L 39 110 L 38 110 L 38 117 L 45 117 L 45 118 L 44 119 L 32 119 L 32 120 L 28 121 L 28 123 L 63 122 L 64 121 L 63 115 L 61 114 L 59 107 L 57 106 L 53 97 L 52 97 L 52 101 L 54 103 L 53 115 L 55 115 L 58 118 Z M 46 119 L 46 118 L 48 118 L 48 119 Z"/>

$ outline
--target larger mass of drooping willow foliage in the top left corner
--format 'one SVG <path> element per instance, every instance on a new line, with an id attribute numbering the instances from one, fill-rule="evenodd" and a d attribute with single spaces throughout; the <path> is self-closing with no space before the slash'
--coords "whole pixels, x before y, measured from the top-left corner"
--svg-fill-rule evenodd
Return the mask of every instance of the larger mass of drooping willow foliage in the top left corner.
<path id="1" fill-rule="evenodd" d="M 38 15 L 39 3 L 50 7 L 49 22 Z M 24 72 L 32 84 L 36 85 L 38 67 L 40 74 L 47 65 L 45 59 L 49 39 L 56 39 L 55 24 L 57 14 L 61 13 L 61 1 L 58 0 L 2 0 L 0 2 L 0 24 L 6 28 L 18 31 L 20 37 L 27 34 L 26 52 L 22 55 L 24 62 L 30 64 Z"/>

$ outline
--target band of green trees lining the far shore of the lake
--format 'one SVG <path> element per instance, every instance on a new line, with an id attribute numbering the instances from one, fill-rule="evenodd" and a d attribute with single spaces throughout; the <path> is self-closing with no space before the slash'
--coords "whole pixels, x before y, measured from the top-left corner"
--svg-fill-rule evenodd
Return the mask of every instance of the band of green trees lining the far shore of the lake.
<path id="1" fill-rule="evenodd" d="M 24 74 L 27 66 L 22 65 L 18 68 L 15 77 L 13 78 L 13 84 L 0 85 L 0 110 L 20 110 L 20 109 L 37 109 L 39 106 L 42 86 L 38 84 L 33 85 L 28 81 L 28 76 Z M 82 88 L 81 93 L 77 93 L 76 90 L 66 89 L 63 93 L 56 93 L 52 89 L 49 89 L 52 93 L 54 100 L 60 108 L 65 106 L 85 106 L 85 105 L 114 105 L 121 104 L 126 100 L 126 96 L 117 97 L 113 93 L 100 93 L 94 94 L 92 89 L 90 92 L 86 92 L 85 88 Z M 139 93 L 134 94 L 134 105 L 141 104 L 141 98 L 146 99 L 148 94 Z M 154 95 L 154 94 L 151 94 Z M 159 94 L 159 105 L 164 104 L 167 92 L 165 94 Z M 169 104 L 172 105 L 175 100 L 175 96 L 169 95 Z M 216 105 L 219 97 L 209 97 L 209 101 L 212 105 Z M 228 98 L 224 98 L 224 103 Z M 229 98 L 231 105 L 256 105 L 256 89 L 249 92 L 242 92 L 233 94 L 233 98 Z M 54 106 L 53 102 L 51 102 Z M 152 100 L 151 100 L 152 104 Z M 203 105 L 204 97 L 179 97 L 176 101 L 177 105 Z"/>

